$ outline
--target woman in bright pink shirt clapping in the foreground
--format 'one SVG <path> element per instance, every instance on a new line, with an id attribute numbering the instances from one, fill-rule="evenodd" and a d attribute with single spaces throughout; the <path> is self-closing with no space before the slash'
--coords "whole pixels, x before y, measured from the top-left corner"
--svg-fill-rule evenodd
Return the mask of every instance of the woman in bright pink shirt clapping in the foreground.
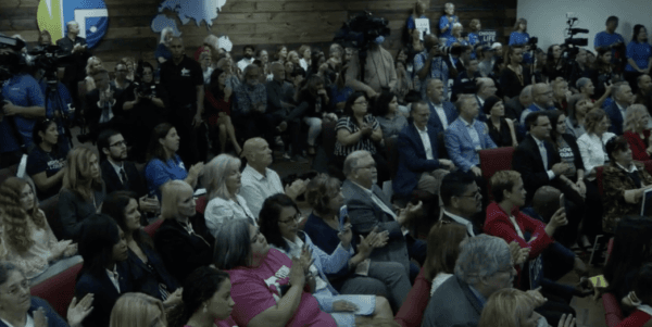
<path id="1" fill-rule="evenodd" d="M 230 275 L 231 317 L 238 326 L 337 326 L 306 291 L 314 288 L 311 263 L 271 249 L 258 227 L 226 222 L 217 231 L 214 257 L 215 266 Z"/>

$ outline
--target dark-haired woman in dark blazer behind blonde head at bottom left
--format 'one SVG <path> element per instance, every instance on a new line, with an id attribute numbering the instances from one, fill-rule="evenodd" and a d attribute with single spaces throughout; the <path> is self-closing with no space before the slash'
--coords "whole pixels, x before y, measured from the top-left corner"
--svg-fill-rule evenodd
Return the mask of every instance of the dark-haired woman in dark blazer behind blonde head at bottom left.
<path id="1" fill-rule="evenodd" d="M 109 327 L 109 317 L 121 294 L 134 290 L 126 263 L 127 242 L 122 229 L 108 215 L 88 217 L 82 226 L 79 254 L 84 266 L 77 275 L 75 297 L 93 294 L 93 310 L 84 326 Z"/>

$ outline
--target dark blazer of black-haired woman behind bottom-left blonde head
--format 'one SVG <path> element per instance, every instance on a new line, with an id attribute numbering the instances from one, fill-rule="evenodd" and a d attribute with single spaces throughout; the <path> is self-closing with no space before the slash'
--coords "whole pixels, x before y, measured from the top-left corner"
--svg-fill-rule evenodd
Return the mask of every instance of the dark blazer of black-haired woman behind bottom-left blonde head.
<path id="1" fill-rule="evenodd" d="M 129 267 L 126 262 L 117 263 L 117 274 L 120 284 L 120 293 L 109 275 L 101 274 L 97 277 L 89 272 L 82 271 L 77 277 L 77 284 L 75 285 L 75 297 L 77 299 L 84 298 L 88 293 L 93 294 L 92 300 L 92 312 L 84 319 L 84 326 L 109 326 L 109 318 L 111 317 L 111 310 L 115 301 L 121 294 L 134 291 L 131 275 L 129 274 Z"/>

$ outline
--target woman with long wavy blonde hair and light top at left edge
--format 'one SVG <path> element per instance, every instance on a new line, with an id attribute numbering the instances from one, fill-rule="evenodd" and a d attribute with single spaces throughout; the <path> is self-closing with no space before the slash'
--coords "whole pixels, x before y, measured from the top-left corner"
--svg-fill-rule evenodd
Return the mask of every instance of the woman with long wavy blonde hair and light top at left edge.
<path id="1" fill-rule="evenodd" d="M 24 179 L 10 177 L 0 185 L 3 244 L 7 261 L 16 265 L 25 278 L 39 282 L 79 263 L 77 244 L 70 240 L 58 241 L 32 185 Z"/>

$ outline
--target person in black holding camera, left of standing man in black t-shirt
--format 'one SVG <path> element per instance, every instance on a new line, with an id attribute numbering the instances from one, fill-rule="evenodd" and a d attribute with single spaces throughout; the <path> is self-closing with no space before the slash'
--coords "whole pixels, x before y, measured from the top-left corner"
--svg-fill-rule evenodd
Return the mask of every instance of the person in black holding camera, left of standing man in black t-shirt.
<path id="1" fill-rule="evenodd" d="M 136 81 L 125 89 L 122 96 L 123 110 L 131 126 L 124 130 L 133 144 L 134 159 L 145 162 L 149 138 L 154 127 L 167 121 L 167 92 L 163 86 L 154 84 L 154 67 L 149 62 L 138 65 Z"/>

